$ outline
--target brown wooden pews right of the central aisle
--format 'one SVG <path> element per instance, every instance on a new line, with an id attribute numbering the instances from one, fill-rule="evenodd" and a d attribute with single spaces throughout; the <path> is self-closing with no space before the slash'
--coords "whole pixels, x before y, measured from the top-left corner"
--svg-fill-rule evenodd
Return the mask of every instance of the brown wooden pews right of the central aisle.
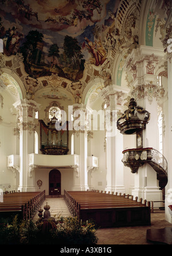
<path id="1" fill-rule="evenodd" d="M 133 196 L 99 191 L 64 191 L 64 199 L 73 217 L 94 220 L 101 228 L 150 225 L 150 202 Z"/>

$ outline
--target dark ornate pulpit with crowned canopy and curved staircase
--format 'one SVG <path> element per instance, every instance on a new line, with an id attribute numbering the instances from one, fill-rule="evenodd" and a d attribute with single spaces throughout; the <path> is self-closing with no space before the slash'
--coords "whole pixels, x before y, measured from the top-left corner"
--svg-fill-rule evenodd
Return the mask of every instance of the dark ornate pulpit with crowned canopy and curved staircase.
<path id="1" fill-rule="evenodd" d="M 136 133 L 142 137 L 142 131 L 146 129 L 148 121 L 150 121 L 150 113 L 138 107 L 135 100 L 131 99 L 128 110 L 118 119 L 117 127 L 122 134 Z M 122 162 L 124 166 L 131 168 L 133 174 L 138 172 L 142 165 L 150 164 L 157 172 L 160 189 L 163 190 L 166 187 L 168 182 L 167 160 L 157 149 L 143 148 L 137 144 L 137 148 L 124 150 L 123 154 Z"/>

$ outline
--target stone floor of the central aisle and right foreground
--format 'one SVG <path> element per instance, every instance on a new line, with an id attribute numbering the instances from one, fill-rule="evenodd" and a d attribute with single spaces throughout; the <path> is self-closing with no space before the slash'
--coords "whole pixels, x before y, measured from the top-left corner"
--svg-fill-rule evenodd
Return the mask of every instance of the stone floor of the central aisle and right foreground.
<path id="1" fill-rule="evenodd" d="M 64 198 L 52 198 L 46 197 L 44 203 L 42 204 L 42 209 L 44 205 L 50 205 L 50 213 L 53 217 L 56 214 L 61 214 L 61 216 L 69 217 L 71 216 L 67 205 L 65 204 Z M 43 212 L 44 214 L 44 212 Z M 38 214 L 36 213 L 34 220 L 38 220 Z M 98 229 L 96 232 L 99 238 L 98 244 L 153 244 L 147 242 L 146 232 L 150 228 L 165 228 L 172 227 L 172 224 L 165 220 L 165 212 L 155 212 L 151 213 L 151 225 L 143 227 L 121 227 L 121 228 L 105 228 Z"/>

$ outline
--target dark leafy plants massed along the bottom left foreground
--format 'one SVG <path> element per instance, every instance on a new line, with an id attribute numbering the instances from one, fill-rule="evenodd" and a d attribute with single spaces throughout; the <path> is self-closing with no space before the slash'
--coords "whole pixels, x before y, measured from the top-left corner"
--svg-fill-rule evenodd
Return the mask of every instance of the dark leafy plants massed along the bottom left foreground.
<path id="1" fill-rule="evenodd" d="M 48 220 L 0 221 L 0 244 L 97 244 L 95 224 L 62 216 Z"/>

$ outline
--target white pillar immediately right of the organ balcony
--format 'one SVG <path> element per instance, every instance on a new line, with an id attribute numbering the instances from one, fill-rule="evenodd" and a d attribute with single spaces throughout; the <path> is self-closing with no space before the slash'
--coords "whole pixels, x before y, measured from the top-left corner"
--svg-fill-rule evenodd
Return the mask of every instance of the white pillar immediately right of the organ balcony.
<path id="1" fill-rule="evenodd" d="M 73 191 L 87 191 L 88 171 L 87 171 L 87 125 L 86 112 L 83 104 L 73 106 L 73 130 L 75 154 L 80 156 L 79 167 L 73 172 Z"/>

